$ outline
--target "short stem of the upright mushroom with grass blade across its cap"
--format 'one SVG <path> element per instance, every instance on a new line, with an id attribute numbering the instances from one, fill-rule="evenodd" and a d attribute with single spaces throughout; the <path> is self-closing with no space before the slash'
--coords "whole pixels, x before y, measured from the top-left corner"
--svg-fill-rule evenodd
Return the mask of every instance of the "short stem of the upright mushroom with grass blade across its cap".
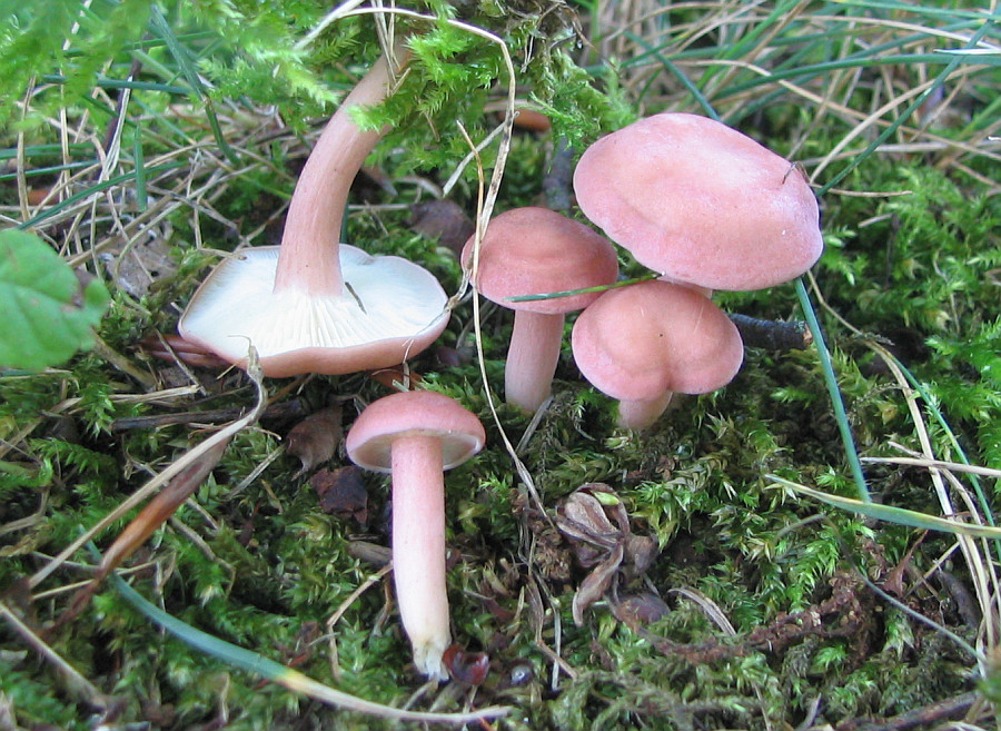
<path id="1" fill-rule="evenodd" d="M 508 404 L 534 412 L 549 397 L 563 344 L 564 320 L 562 314 L 515 312 L 504 367 L 504 394 Z"/>

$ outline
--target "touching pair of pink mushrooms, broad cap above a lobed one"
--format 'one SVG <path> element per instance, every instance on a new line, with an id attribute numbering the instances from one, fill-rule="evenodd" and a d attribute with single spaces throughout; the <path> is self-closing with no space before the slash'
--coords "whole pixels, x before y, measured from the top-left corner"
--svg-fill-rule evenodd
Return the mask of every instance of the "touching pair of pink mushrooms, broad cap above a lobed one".
<path id="1" fill-rule="evenodd" d="M 621 426 L 648 426 L 673 393 L 736 375 L 743 344 L 713 290 L 789 281 L 823 250 L 795 166 L 705 117 L 665 112 L 603 137 L 581 157 L 574 191 L 588 219 L 661 275 L 605 293 L 574 325 L 577 366 L 620 399 Z"/>

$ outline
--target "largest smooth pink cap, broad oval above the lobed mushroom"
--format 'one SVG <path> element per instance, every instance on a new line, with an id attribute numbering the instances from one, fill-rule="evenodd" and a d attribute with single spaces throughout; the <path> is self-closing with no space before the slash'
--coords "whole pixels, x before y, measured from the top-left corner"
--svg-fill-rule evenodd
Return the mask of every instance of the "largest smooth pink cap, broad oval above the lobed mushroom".
<path id="1" fill-rule="evenodd" d="M 592 145 L 574 172 L 584 215 L 666 279 L 740 292 L 802 275 L 823 250 L 793 164 L 706 117 L 665 112 Z"/>

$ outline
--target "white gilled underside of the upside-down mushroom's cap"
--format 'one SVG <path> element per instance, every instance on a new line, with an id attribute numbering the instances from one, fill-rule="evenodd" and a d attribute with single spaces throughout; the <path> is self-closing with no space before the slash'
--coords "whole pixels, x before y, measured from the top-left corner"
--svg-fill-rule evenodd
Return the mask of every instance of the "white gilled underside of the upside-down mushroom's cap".
<path id="1" fill-rule="evenodd" d="M 274 292 L 277 246 L 222 261 L 192 298 L 181 335 L 230 360 L 252 344 L 261 358 L 303 348 L 348 348 L 414 338 L 440 325 L 448 297 L 437 279 L 406 259 L 373 257 L 340 245 L 346 286 L 339 296 Z"/>

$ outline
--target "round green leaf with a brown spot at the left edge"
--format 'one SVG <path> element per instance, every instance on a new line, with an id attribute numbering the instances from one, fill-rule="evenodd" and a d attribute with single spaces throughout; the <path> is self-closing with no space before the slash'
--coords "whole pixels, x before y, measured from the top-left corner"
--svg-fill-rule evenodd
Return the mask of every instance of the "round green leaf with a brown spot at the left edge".
<path id="1" fill-rule="evenodd" d="M 73 270 L 32 234 L 0 231 L 0 368 L 40 371 L 91 345 L 108 306 L 95 279 L 80 292 Z"/>

